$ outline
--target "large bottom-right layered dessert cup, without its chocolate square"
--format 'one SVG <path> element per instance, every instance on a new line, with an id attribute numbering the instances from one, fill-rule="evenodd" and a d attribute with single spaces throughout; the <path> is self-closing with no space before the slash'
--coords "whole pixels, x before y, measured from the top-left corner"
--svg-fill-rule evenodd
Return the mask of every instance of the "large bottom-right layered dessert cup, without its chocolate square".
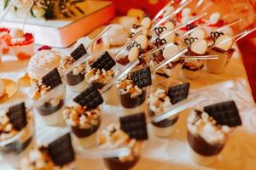
<path id="1" fill-rule="evenodd" d="M 218 124 L 205 111 L 192 111 L 188 117 L 188 142 L 191 158 L 209 165 L 218 160 L 226 144 L 231 127 Z"/>

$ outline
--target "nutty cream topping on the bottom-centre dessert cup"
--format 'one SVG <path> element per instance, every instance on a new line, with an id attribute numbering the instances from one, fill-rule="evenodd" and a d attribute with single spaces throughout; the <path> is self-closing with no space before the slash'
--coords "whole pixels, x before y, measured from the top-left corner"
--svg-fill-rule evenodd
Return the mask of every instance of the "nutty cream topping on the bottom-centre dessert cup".
<path id="1" fill-rule="evenodd" d="M 140 143 L 131 139 L 128 134 L 122 131 L 119 124 L 110 124 L 98 133 L 97 143 L 104 150 L 114 150 L 127 147 L 131 150 L 129 156 L 119 157 L 120 161 L 133 161 L 139 156 Z"/>

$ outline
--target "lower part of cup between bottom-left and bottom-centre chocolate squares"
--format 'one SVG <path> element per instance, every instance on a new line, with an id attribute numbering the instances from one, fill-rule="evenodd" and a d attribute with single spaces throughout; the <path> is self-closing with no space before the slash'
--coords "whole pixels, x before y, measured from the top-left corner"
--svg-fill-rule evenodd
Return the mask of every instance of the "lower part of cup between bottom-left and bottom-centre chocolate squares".
<path id="1" fill-rule="evenodd" d="M 71 126 L 69 128 L 73 132 L 73 139 L 83 149 L 96 146 L 96 132 L 101 126 L 101 119 L 96 126 L 90 126 L 89 128 L 82 128 L 79 126 Z"/>

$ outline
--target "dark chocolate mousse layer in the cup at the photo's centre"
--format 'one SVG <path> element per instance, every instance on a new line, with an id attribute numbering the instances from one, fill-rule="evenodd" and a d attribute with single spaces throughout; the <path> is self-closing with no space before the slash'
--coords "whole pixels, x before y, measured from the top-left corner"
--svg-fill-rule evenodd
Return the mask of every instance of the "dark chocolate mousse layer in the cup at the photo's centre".
<path id="1" fill-rule="evenodd" d="M 131 94 L 119 94 L 120 103 L 123 107 L 131 109 L 138 105 L 142 105 L 146 100 L 146 92 L 143 90 L 143 94 L 138 95 L 135 98 L 131 98 Z"/>

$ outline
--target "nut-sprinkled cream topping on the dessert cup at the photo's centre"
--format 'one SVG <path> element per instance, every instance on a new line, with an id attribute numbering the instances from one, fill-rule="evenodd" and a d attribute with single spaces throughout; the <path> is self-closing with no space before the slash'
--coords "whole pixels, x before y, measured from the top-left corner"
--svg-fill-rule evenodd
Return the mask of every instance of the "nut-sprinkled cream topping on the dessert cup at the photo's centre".
<path id="1" fill-rule="evenodd" d="M 120 94 L 131 94 L 131 98 L 143 94 L 143 89 L 137 87 L 130 74 L 117 82 L 117 88 Z"/>

